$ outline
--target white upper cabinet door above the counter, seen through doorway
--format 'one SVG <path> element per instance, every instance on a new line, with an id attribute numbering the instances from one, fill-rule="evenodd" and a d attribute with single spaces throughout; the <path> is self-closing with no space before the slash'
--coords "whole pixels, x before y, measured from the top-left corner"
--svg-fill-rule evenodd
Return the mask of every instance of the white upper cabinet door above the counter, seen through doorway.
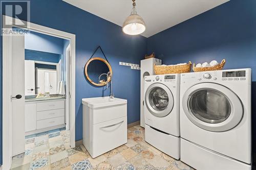
<path id="1" fill-rule="evenodd" d="M 35 95 L 35 62 L 25 60 L 25 95 Z"/>

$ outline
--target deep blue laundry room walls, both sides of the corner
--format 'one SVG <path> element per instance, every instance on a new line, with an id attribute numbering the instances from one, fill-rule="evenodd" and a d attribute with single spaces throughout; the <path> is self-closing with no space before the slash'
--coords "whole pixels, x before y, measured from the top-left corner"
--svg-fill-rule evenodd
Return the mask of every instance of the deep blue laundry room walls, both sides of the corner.
<path id="1" fill-rule="evenodd" d="M 255 6 L 254 0 L 247 0 L 246 3 L 231 0 L 148 39 L 142 36 L 124 35 L 121 27 L 114 23 L 61 0 L 31 1 L 31 22 L 76 34 L 75 114 L 76 140 L 80 140 L 82 139 L 81 99 L 109 95 L 109 90 L 94 87 L 84 78 L 84 65 L 98 45 L 101 45 L 112 65 L 115 96 L 128 101 L 128 123 L 132 123 L 140 117 L 140 71 L 120 66 L 119 61 L 139 63 L 146 52 L 148 54 L 155 52 L 157 57 L 163 59 L 166 64 L 189 60 L 203 62 L 217 59 L 220 61 L 225 58 L 227 59 L 225 68 L 251 67 L 253 81 L 256 81 Z M 26 20 L 26 18 L 23 19 Z M 2 38 L 0 46 L 2 65 Z M 97 55 L 102 57 L 101 54 Z M 254 103 L 256 101 L 255 86 L 253 85 Z M 0 87 L 2 98 L 2 79 Z M 2 108 L 2 99 L 0 107 Z M 2 124 L 2 117 L 0 124 Z M 2 130 L 0 132 L 2 133 Z M 0 141 L 2 141 L 2 135 Z M 2 150 L 2 147 L 0 149 Z M 2 154 L 0 156 L 2 157 Z"/>

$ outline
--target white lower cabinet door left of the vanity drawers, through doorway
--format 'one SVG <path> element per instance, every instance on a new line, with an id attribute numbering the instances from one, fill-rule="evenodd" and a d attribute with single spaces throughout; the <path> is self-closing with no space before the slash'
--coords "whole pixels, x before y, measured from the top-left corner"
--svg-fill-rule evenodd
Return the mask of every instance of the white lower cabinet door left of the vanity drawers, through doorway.
<path id="1" fill-rule="evenodd" d="M 36 103 L 25 104 L 25 131 L 36 130 Z"/>

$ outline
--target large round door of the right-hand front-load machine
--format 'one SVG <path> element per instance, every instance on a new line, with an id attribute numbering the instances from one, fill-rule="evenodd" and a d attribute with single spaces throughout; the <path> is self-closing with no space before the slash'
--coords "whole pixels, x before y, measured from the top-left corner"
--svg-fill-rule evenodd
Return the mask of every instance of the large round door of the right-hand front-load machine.
<path id="1" fill-rule="evenodd" d="M 230 130 L 243 117 L 239 97 L 216 83 L 200 83 L 190 87 L 183 96 L 182 107 L 192 123 L 212 132 Z"/>

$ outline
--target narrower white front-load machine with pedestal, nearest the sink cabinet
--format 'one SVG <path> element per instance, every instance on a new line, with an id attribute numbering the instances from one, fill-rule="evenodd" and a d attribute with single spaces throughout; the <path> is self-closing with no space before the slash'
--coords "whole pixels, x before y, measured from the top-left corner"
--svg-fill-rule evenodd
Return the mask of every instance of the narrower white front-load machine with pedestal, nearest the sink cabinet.
<path id="1" fill-rule="evenodd" d="M 180 75 L 145 77 L 145 141 L 180 159 Z"/>

